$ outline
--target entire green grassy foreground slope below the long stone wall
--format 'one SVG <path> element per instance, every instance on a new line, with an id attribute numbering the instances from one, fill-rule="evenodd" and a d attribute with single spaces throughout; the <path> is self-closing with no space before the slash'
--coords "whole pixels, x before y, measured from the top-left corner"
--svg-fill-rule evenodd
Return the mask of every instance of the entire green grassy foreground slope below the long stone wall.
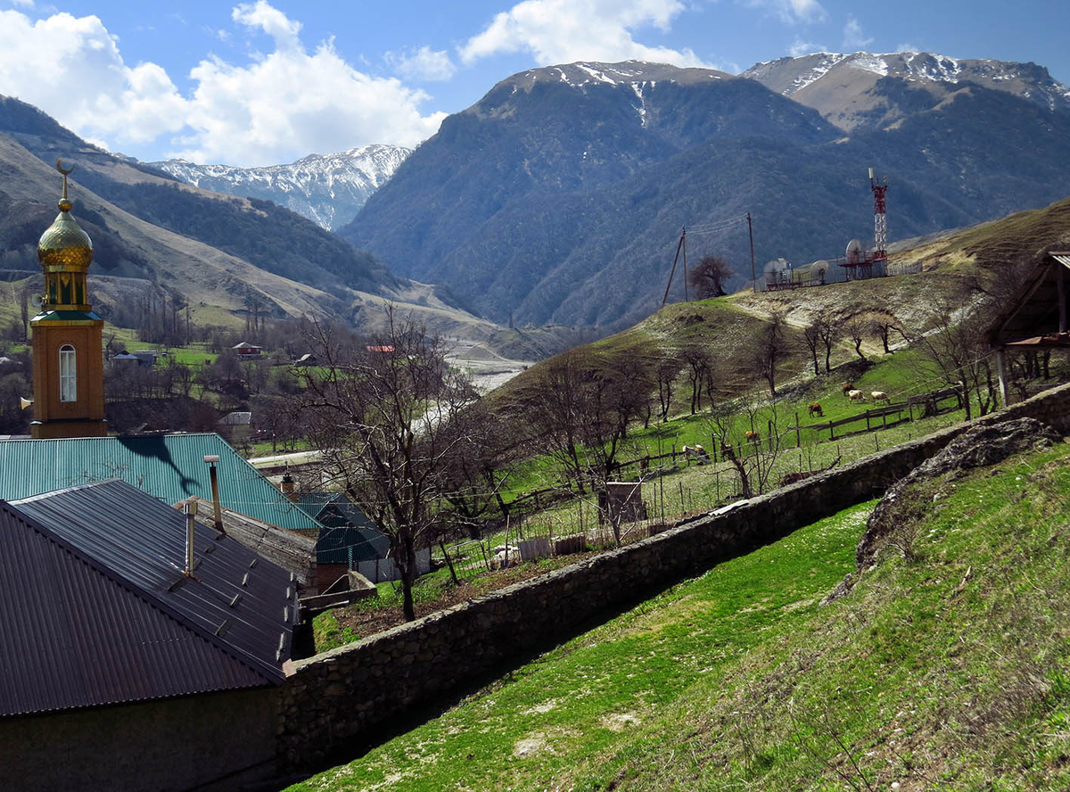
<path id="1" fill-rule="evenodd" d="M 842 599 L 817 606 L 853 570 L 872 504 L 292 789 L 1067 789 L 1070 446 L 904 502 L 918 507 Z"/>

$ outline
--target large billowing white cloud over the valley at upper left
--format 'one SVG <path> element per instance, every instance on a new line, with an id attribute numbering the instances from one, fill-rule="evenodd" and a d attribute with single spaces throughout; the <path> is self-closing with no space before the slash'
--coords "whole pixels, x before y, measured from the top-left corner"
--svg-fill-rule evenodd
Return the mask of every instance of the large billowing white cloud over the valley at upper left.
<path id="1" fill-rule="evenodd" d="M 170 155 L 266 165 L 370 142 L 415 146 L 445 113 L 423 115 L 426 93 L 356 71 L 331 41 L 305 50 L 301 24 L 260 0 L 233 10 L 274 50 L 230 63 L 209 57 L 182 95 L 155 63 L 127 66 L 95 16 L 31 21 L 0 12 L 0 93 L 40 107 L 83 137 L 122 150 L 163 137 Z"/>

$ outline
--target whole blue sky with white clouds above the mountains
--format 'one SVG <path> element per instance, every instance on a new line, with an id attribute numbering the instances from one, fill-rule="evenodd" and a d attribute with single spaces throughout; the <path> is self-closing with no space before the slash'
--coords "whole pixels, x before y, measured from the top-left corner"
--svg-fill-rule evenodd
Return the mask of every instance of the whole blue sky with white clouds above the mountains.
<path id="1" fill-rule="evenodd" d="M 0 0 L 0 94 L 142 161 L 251 167 L 414 147 L 499 80 L 578 60 L 921 50 L 1070 85 L 1068 30 L 1067 0 Z"/>

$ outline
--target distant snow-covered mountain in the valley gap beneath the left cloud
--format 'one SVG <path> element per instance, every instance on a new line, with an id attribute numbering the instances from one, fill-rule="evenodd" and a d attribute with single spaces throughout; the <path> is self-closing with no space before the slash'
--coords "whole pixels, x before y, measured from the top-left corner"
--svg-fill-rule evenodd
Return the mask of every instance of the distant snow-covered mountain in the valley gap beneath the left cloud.
<path id="1" fill-rule="evenodd" d="M 263 168 L 195 165 L 185 159 L 149 165 L 202 189 L 272 200 L 330 231 L 353 219 L 411 153 L 400 146 L 372 144 Z"/>

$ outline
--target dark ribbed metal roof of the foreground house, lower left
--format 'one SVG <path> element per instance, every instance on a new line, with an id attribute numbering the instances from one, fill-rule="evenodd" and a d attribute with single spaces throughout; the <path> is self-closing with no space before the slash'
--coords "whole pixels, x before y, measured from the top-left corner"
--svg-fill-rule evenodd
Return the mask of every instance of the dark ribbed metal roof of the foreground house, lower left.
<path id="1" fill-rule="evenodd" d="M 120 481 L 0 501 L 0 716 L 278 684 L 293 576 Z"/>

